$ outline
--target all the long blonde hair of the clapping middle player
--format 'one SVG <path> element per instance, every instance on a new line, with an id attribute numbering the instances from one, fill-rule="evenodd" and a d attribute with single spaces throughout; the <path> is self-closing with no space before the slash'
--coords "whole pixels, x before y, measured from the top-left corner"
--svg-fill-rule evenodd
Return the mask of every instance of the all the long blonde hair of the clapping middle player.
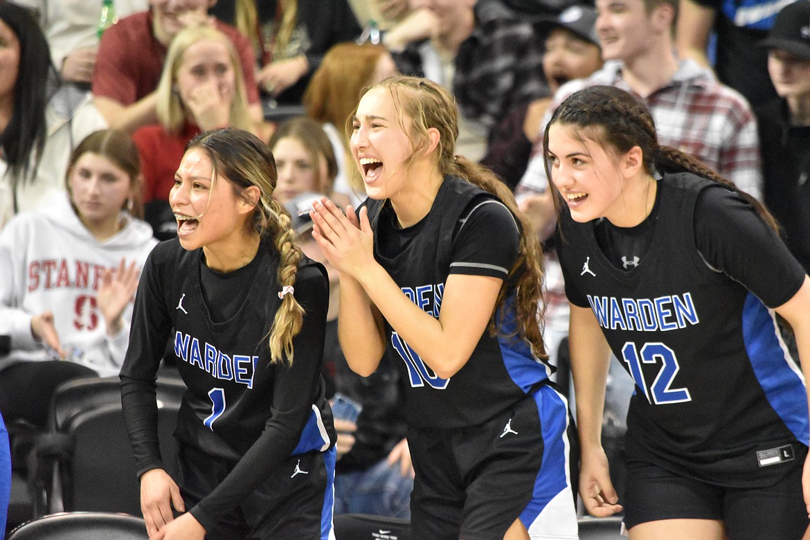
<path id="1" fill-rule="evenodd" d="M 424 155 L 430 144 L 428 129 L 435 128 L 439 132 L 439 142 L 433 155 L 436 156 L 437 167 L 441 174 L 458 176 L 492 193 L 509 208 L 520 223 L 518 258 L 498 293 L 497 309 L 492 314 L 488 329 L 492 335 L 499 334 L 497 323 L 499 317 L 504 315 L 501 308 L 504 307 L 506 300 L 506 283 L 509 283 L 513 276 L 517 276 L 514 304 L 517 327 L 512 335 L 525 338 L 535 357 L 548 360 L 539 322 L 544 312 L 541 289 L 543 250 L 531 223 L 518 210 L 512 191 L 488 168 L 454 154 L 455 140 L 458 137 L 458 108 L 454 97 L 438 84 L 418 77 L 389 77 L 371 88 L 386 89 L 394 101 L 394 108 L 399 115 L 399 125 L 413 147 L 411 155 L 405 162 L 407 172 L 411 170 L 416 159 Z M 407 130 L 405 125 L 406 117 L 411 119 L 410 130 Z"/>

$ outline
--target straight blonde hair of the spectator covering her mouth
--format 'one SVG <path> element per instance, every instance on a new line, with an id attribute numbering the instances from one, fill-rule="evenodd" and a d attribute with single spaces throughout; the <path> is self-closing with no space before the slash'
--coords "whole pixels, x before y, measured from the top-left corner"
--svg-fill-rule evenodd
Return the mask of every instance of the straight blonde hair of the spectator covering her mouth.
<path id="1" fill-rule="evenodd" d="M 216 28 L 203 24 L 201 26 L 183 28 L 174 36 L 172 45 L 168 47 L 166 60 L 164 62 L 163 73 L 160 74 L 160 83 L 157 85 L 156 112 L 160 124 L 173 134 L 179 133 L 186 121 L 185 105 L 180 93 L 175 90 L 177 83 L 177 71 L 183 62 L 183 55 L 191 45 L 199 41 L 209 40 L 225 45 L 228 50 L 228 59 L 233 67 L 234 96 L 231 101 L 231 111 L 229 124 L 241 130 L 250 128 L 250 117 L 248 113 L 248 99 L 245 91 L 245 76 L 242 73 L 242 66 L 228 36 Z"/>

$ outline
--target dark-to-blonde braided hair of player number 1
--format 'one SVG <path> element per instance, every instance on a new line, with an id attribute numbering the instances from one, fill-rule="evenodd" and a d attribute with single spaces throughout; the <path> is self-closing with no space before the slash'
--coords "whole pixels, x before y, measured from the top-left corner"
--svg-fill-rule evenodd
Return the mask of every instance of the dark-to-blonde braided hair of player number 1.
<path id="1" fill-rule="evenodd" d="M 290 227 L 290 215 L 273 199 L 278 175 L 270 149 L 254 134 L 232 128 L 200 134 L 189 142 L 186 151 L 191 148 L 206 152 L 211 158 L 214 176 L 227 178 L 238 198 L 247 200 L 245 189 L 252 185 L 258 187 L 260 196 L 256 210 L 246 225 L 254 227 L 259 236 L 271 239 L 278 251 L 279 269 L 276 275 L 279 291 L 285 286 L 295 285 L 301 249 L 293 242 L 295 232 Z M 292 365 L 292 338 L 301 331 L 303 321 L 304 308 L 301 308 L 295 296 L 284 295 L 270 331 L 265 336 L 271 364 L 286 358 L 287 364 Z"/>

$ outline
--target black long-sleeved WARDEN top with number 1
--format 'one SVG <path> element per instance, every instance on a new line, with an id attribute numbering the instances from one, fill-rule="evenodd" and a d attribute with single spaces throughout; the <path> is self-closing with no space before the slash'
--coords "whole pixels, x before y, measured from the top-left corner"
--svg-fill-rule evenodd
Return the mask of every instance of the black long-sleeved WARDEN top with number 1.
<path id="1" fill-rule="evenodd" d="M 305 316 L 293 340 L 290 367 L 286 360 L 271 364 L 267 346 L 281 288 L 273 244 L 262 240 L 256 277 L 244 304 L 227 321 L 211 319 L 200 282 L 202 256 L 202 249 L 186 251 L 177 239 L 152 251 L 139 283 L 122 368 L 125 394 L 130 387 L 134 394 L 147 391 L 168 342 L 188 386 L 175 431 L 183 444 L 236 462 L 261 439 L 262 466 L 291 453 L 328 449 L 335 432 L 321 376 L 326 270 L 307 258 L 299 264 L 294 294 Z M 135 404 L 141 399 L 134 398 Z M 145 413 L 132 409 L 127 422 L 140 473 L 160 466 L 160 454 L 133 430 L 133 421 L 145 421 Z"/>

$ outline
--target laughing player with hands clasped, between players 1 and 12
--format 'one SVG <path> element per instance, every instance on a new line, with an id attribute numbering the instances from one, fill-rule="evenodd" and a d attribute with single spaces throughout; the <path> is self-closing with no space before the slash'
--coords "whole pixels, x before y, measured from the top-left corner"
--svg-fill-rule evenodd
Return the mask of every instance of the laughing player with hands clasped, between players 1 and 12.
<path id="1" fill-rule="evenodd" d="M 454 99 L 392 77 L 360 99 L 352 156 L 369 198 L 314 206 L 340 273 L 340 345 L 404 381 L 411 537 L 577 538 L 568 405 L 548 385 L 539 244 L 487 169 L 454 155 Z"/>

